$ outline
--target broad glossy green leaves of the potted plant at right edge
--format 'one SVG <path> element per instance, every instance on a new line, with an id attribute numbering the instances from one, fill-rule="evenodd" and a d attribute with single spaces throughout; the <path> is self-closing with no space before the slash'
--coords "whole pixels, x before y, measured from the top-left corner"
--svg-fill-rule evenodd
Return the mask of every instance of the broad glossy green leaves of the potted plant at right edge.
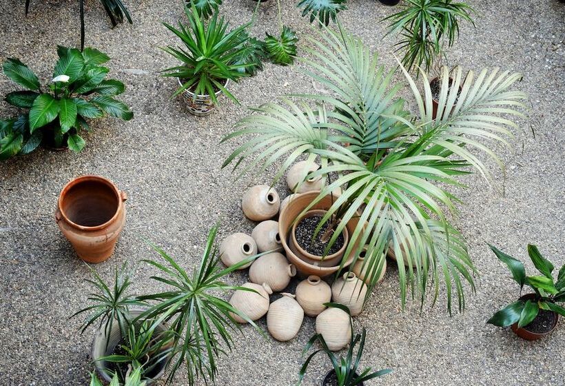
<path id="1" fill-rule="evenodd" d="M 535 298 L 526 301 L 520 299 L 511 303 L 494 314 L 486 323 L 499 327 L 518 324 L 524 327 L 531 323 L 540 309 L 551 310 L 565 316 L 565 308 L 556 303 L 565 303 L 565 265 L 557 274 L 557 281 L 553 279 L 553 264 L 548 261 L 535 245 L 528 244 L 528 255 L 533 265 L 541 273 L 538 276 L 526 276 L 526 269 L 521 261 L 498 250 L 489 244 L 497 258 L 509 267 L 512 278 L 520 285 L 520 293 L 524 285 L 530 287 L 535 293 Z"/>

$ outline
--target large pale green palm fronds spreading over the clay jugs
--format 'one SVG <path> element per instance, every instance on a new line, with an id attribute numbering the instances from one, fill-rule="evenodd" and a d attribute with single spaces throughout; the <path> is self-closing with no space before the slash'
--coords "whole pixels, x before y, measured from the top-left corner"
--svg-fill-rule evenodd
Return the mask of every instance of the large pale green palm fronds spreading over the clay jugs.
<path id="1" fill-rule="evenodd" d="M 385 70 L 360 39 L 338 26 L 338 31 L 326 28 L 327 33 L 311 38 L 316 47 L 309 50 L 313 59 L 302 59 L 309 66 L 305 73 L 329 93 L 295 96 L 298 103 L 289 98 L 266 103 L 238 121 L 223 142 L 245 136 L 245 143 L 223 167 L 235 162 L 234 170 L 240 169 L 237 176 L 242 176 L 278 165 L 276 183 L 302 156 L 318 159 L 320 169 L 305 178 L 332 178 L 302 214 L 336 188 L 342 189 L 316 230 L 317 234 L 331 223 L 334 232 L 326 252 L 345 225 L 357 218 L 344 256 L 353 254 L 355 263 L 366 245 L 363 264 L 371 268 L 365 274 L 372 277 L 369 288 L 379 276 L 377 260 L 391 250 L 398 263 L 402 306 L 409 290 L 423 305 L 427 290 L 433 288 L 435 301 L 443 281 L 449 312 L 453 294 L 463 309 L 463 282 L 474 290 L 476 272 L 461 235 L 449 223 L 459 202 L 449 187 L 460 186 L 455 177 L 473 168 L 493 181 L 476 150 L 503 167 L 482 140 L 509 145 L 511 129 L 517 127 L 512 117 L 523 116 L 517 109 L 526 96 L 511 90 L 521 75 L 497 69 L 464 75 L 458 68 L 451 86 L 448 77 L 443 78 L 433 119 L 427 77 L 422 74 L 421 94 L 401 66 L 415 99 L 411 114 L 398 97 L 402 85 L 391 83 L 393 71 Z M 345 258 L 340 269 L 344 263 Z"/>

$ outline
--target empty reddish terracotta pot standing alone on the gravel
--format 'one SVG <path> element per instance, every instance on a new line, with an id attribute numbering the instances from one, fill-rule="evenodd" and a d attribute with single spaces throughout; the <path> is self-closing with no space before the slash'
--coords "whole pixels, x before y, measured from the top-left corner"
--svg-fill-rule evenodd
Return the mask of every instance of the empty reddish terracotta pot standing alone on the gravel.
<path id="1" fill-rule="evenodd" d="M 114 253 L 125 224 L 127 194 L 101 176 L 81 176 L 61 191 L 55 220 L 84 261 L 101 263 Z"/>

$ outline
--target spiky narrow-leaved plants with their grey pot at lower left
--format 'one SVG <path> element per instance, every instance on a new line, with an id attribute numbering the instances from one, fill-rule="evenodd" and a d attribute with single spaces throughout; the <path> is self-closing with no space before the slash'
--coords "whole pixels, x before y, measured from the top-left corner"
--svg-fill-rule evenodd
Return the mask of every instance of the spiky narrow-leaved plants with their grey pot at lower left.
<path id="1" fill-rule="evenodd" d="M 237 315 L 257 325 L 222 297 L 232 290 L 253 291 L 228 285 L 223 277 L 251 263 L 250 256 L 231 267 L 220 267 L 215 245 L 218 227 L 208 234 L 201 262 L 187 272 L 161 248 L 152 245 L 161 260 L 147 260 L 163 276 L 152 276 L 167 285 L 163 292 L 134 296 L 128 293 L 128 274 L 116 274 L 114 285 L 107 285 L 97 274 L 90 281 L 99 290 L 90 296 L 94 304 L 75 315 L 90 313 L 82 331 L 99 321 L 92 344 L 92 359 L 99 374 L 110 382 L 118 374 L 121 383 L 133 368 L 141 368 L 141 380 L 147 384 L 169 370 L 167 383 L 183 363 L 189 385 L 196 379 L 214 382 L 218 372 L 217 358 L 234 345 L 232 331 L 240 329 Z"/>

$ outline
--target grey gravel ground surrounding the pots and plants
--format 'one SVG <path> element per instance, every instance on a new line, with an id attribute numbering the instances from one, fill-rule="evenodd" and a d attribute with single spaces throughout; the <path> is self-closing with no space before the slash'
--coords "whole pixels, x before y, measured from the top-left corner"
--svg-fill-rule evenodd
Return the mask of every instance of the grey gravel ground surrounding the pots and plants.
<path id="1" fill-rule="evenodd" d="M 56 59 L 56 44 L 78 45 L 79 10 L 75 0 L 32 1 L 24 17 L 24 1 L 0 0 L 0 60 L 18 57 L 45 81 Z M 179 1 L 126 1 L 134 25 L 110 29 L 99 1 L 87 1 L 87 45 L 112 57 L 113 77 L 127 83 L 123 100 L 134 119 L 97 121 L 82 154 L 39 150 L 0 164 L 0 383 L 2 385 L 85 385 L 94 331 L 83 336 L 78 318 L 90 287 L 85 263 L 76 258 L 53 219 L 61 187 L 74 176 L 101 174 L 129 194 L 127 224 L 116 254 L 96 266 L 110 280 L 114 267 L 154 257 L 139 236 L 160 244 L 185 267 L 201 256 L 207 230 L 222 221 L 220 238 L 251 232 L 254 224 L 240 209 L 247 185 L 220 170 L 223 159 L 243 140 L 218 145 L 248 106 L 272 101 L 289 92 L 308 92 L 313 84 L 297 67 L 267 64 L 256 77 L 234 85 L 241 106 L 225 101 L 212 116 L 190 116 L 181 99 L 170 99 L 173 79 L 158 71 L 174 60 L 158 47 L 174 42 L 161 21 L 182 16 Z M 226 0 L 222 10 L 232 21 L 251 18 L 254 3 Z M 557 267 L 565 263 L 565 4 L 557 0 L 470 0 L 480 17 L 476 29 L 464 24 L 448 53 L 449 64 L 480 70 L 500 66 L 524 74 L 518 88 L 530 96 L 531 110 L 520 122 L 513 149 L 498 148 L 506 175 L 497 173 L 497 188 L 474 174 L 469 189 L 455 191 L 464 201 L 457 227 L 469 241 L 480 270 L 477 293 L 466 299 L 466 311 L 449 317 L 444 298 L 420 312 L 417 302 L 401 310 L 396 268 L 392 264 L 373 292 L 355 326 L 367 327 L 364 365 L 391 368 L 393 373 L 368 385 L 564 385 L 565 332 L 560 322 L 551 338 L 529 343 L 509 329 L 486 325 L 497 309 L 513 301 L 518 288 L 506 267 L 486 243 L 523 260 L 526 244 L 540 245 Z M 395 11 L 374 0 L 350 0 L 342 22 L 355 30 L 380 60 L 394 65 L 393 37 L 384 37 L 378 21 Z M 302 38 L 300 54 L 316 34 L 300 17 L 294 1 L 281 1 L 283 20 Z M 276 2 L 260 6 L 254 32 L 277 30 Z M 400 79 L 400 75 L 397 74 Z M 315 85 L 314 85 L 315 86 Z M 16 87 L 0 77 L 0 93 Z M 0 115 L 12 111 L 0 103 Z M 535 136 L 533 135 L 535 133 Z M 489 164 L 492 164 L 489 162 Z M 493 165 L 494 167 L 494 165 Z M 493 169 L 494 170 L 494 169 Z M 288 192 L 278 185 L 278 192 Z M 527 264 L 529 270 L 533 269 Z M 137 292 L 158 290 L 148 278 L 152 270 L 139 264 Z M 228 278 L 243 283 L 245 274 Z M 265 322 L 260 321 L 265 327 Z M 236 349 L 220 363 L 218 385 L 282 386 L 298 379 L 300 353 L 314 332 L 311 318 L 293 341 L 278 343 L 250 327 L 236 338 Z M 304 385 L 319 385 L 329 369 L 325 358 L 311 363 Z M 176 385 L 186 385 L 178 372 Z M 203 384 L 203 383 L 202 383 Z"/>

